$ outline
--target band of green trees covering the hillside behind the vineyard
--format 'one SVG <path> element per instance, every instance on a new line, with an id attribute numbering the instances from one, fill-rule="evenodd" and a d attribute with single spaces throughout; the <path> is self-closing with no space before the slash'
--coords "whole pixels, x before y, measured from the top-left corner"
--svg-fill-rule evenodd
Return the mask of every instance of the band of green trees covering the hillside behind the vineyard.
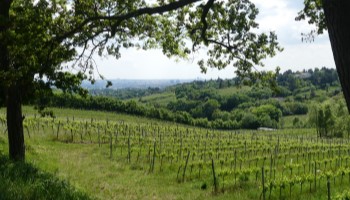
<path id="1" fill-rule="evenodd" d="M 337 80 L 334 69 L 321 68 L 303 72 L 286 71 L 278 75 L 276 88 L 239 88 L 237 79 L 194 81 L 170 86 L 165 91 L 174 92 L 176 99 L 164 106 L 156 102 L 140 102 L 143 95 L 162 92 L 156 88 L 95 91 L 87 98 L 60 93 L 47 100 L 46 104 L 126 113 L 206 128 L 278 128 L 283 126 L 282 116 L 307 114 L 310 100 L 321 102 L 326 98 L 324 91 L 328 90 L 330 96 L 338 94 Z M 232 90 L 218 92 L 225 88 Z M 123 95 L 122 98 L 112 98 L 118 93 Z M 139 94 L 139 98 L 135 99 Z M 133 100 L 122 101 L 128 97 Z M 295 121 L 293 124 L 300 126 L 302 122 Z"/>

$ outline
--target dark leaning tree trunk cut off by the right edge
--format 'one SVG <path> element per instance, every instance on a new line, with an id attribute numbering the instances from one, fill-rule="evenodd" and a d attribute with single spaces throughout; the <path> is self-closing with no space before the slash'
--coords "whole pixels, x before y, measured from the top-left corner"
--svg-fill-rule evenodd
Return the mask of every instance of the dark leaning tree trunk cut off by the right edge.
<path id="1" fill-rule="evenodd" d="M 335 65 L 350 113 L 350 0 L 323 0 Z"/>

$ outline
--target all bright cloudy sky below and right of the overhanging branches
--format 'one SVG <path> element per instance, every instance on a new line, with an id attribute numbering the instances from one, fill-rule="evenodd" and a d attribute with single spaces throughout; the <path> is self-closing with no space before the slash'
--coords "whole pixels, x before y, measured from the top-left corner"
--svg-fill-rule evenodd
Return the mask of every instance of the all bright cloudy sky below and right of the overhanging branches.
<path id="1" fill-rule="evenodd" d="M 335 67 L 327 34 L 317 36 L 313 43 L 303 43 L 301 33 L 313 29 L 306 21 L 297 22 L 295 17 L 303 8 L 303 0 L 251 0 L 259 8 L 257 22 L 262 31 L 275 31 L 283 52 L 264 61 L 263 70 L 281 71 L 310 68 Z M 107 79 L 217 79 L 233 78 L 233 67 L 217 70 L 209 68 L 200 72 L 197 61 L 201 55 L 190 60 L 175 60 L 164 56 L 160 50 L 122 50 L 122 57 L 96 58 L 99 72 Z M 259 68 L 261 69 L 261 68 Z"/>

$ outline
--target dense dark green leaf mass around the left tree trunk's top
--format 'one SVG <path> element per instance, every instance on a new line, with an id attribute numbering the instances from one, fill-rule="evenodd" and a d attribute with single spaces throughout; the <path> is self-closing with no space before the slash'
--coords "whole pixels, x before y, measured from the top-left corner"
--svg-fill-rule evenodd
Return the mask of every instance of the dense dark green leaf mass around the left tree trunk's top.
<path id="1" fill-rule="evenodd" d="M 21 87 L 25 100 L 50 95 L 52 86 L 86 95 L 80 87 L 81 81 L 86 78 L 83 73 L 61 71 L 61 64 L 71 61 L 76 55 L 67 40 L 62 43 L 55 41 L 58 33 L 68 26 L 64 20 L 67 12 L 62 2 L 12 3 L 10 29 L 0 33 L 1 41 L 8 46 L 11 63 L 9 68 L 0 71 L 2 86 L 16 83 Z M 43 100 L 38 101 L 39 105 L 42 103 Z"/>

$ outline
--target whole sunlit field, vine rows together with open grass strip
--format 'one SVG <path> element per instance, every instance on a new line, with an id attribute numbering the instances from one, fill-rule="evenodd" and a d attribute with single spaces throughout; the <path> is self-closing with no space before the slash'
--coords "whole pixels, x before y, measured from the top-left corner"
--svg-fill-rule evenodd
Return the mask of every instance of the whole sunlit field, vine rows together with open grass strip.
<path id="1" fill-rule="evenodd" d="M 93 199 L 345 199 L 350 141 L 313 129 L 218 131 L 24 107 L 26 162 Z M 0 153 L 7 155 L 4 110 Z"/>

